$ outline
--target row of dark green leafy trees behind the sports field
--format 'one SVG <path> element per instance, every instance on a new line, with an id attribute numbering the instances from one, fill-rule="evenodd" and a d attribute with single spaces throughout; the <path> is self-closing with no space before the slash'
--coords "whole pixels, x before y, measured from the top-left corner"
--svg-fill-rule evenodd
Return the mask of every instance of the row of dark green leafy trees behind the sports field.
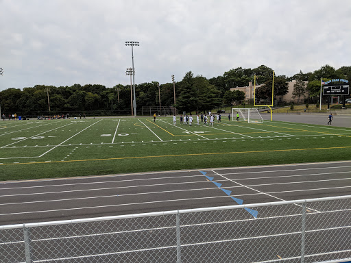
<path id="1" fill-rule="evenodd" d="M 247 86 L 254 82 L 263 84 L 256 90 L 256 97 L 268 99 L 272 85 L 273 70 L 265 65 L 257 68 L 234 68 L 218 77 L 206 79 L 202 75 L 194 76 L 187 72 L 180 82 L 175 83 L 176 103 L 173 101 L 173 84 L 160 84 L 160 102 L 162 106 L 173 106 L 180 111 L 191 112 L 219 108 L 224 104 L 242 103 L 245 94 L 230 88 Z M 351 66 L 335 69 L 326 65 L 310 73 L 296 73 L 291 77 L 285 75 L 274 77 L 274 97 L 288 92 L 287 82 L 296 79 L 293 96 L 314 99 L 319 97 L 320 79 L 343 78 L 351 81 Z M 305 82 L 308 82 L 305 84 Z M 158 82 L 136 84 L 136 105 L 141 110 L 143 106 L 158 107 Z M 45 86 L 8 88 L 0 92 L 2 112 L 47 112 L 48 95 L 52 112 L 130 112 L 130 85 L 117 84 L 107 88 L 99 84 L 74 84 L 73 86 Z"/>

